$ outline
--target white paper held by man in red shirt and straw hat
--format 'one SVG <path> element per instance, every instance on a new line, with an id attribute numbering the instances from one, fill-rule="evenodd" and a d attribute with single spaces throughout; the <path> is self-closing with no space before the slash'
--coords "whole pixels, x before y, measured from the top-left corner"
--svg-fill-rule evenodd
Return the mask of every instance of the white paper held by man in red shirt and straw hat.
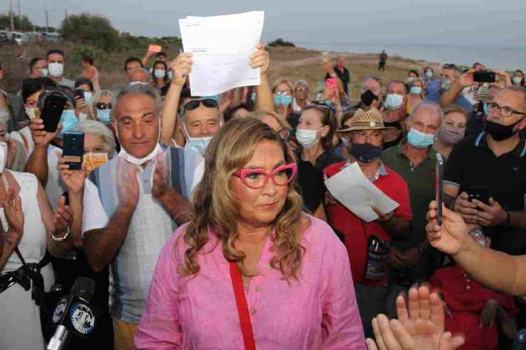
<path id="1" fill-rule="evenodd" d="M 356 162 L 329 177 L 325 185 L 338 202 L 365 222 L 378 219 L 378 215 L 371 208 L 372 205 L 384 214 L 399 206 L 363 175 L 360 165 Z"/>

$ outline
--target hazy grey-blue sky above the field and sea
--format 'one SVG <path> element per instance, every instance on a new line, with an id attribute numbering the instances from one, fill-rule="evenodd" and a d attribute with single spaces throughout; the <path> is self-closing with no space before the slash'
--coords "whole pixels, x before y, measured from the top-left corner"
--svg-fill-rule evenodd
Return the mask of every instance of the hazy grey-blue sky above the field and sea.
<path id="1" fill-rule="evenodd" d="M 275 38 L 310 43 L 487 45 L 526 47 L 525 0 L 13 0 L 17 12 L 60 26 L 69 14 L 106 16 L 134 35 L 179 36 L 178 18 L 265 11 L 264 42 Z M 262 3 L 262 4 L 258 4 Z M 0 0 L 0 12 L 9 0 Z"/>

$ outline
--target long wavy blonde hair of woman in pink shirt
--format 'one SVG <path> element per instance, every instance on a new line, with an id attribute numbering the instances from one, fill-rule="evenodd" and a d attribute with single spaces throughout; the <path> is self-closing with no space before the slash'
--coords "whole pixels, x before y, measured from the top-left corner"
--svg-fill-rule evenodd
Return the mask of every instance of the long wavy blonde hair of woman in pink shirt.
<path id="1" fill-rule="evenodd" d="M 294 153 L 272 129 L 257 119 L 246 117 L 234 119 L 222 126 L 214 136 L 205 153 L 205 174 L 193 194 L 195 217 L 188 224 L 183 236 L 189 248 L 185 251 L 185 262 L 179 271 L 184 276 L 197 275 L 200 266 L 197 256 L 210 240 L 210 234 L 222 244 L 222 253 L 228 261 L 237 261 L 243 274 L 245 253 L 234 247 L 240 219 L 240 204 L 232 195 L 230 182 L 233 174 L 243 168 L 254 155 L 259 143 L 273 141 L 281 146 L 286 163 L 295 163 Z M 294 183 L 294 182 L 292 182 Z M 283 209 L 274 220 L 274 245 L 272 268 L 277 268 L 286 280 L 298 278 L 305 248 L 301 246 L 303 201 L 294 185 Z"/>

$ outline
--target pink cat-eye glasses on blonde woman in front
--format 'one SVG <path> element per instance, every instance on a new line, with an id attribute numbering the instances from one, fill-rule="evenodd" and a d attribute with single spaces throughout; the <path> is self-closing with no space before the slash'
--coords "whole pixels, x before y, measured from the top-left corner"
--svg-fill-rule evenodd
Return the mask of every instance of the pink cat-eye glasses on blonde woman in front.
<path id="1" fill-rule="evenodd" d="M 237 170 L 234 173 L 234 176 L 240 177 L 241 181 L 247 186 L 254 190 L 262 188 L 267 184 L 269 177 L 272 177 L 272 181 L 277 186 L 288 185 L 296 172 L 298 171 L 298 166 L 295 163 L 289 163 L 280 165 L 272 171 L 272 173 L 267 173 L 263 169 L 241 169 Z"/>

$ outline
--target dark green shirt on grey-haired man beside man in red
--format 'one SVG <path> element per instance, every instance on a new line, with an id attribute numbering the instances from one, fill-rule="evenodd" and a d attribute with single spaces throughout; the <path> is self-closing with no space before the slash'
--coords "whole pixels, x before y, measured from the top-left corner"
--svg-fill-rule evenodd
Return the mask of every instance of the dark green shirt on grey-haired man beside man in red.
<path id="1" fill-rule="evenodd" d="M 382 153 L 382 162 L 402 176 L 409 187 L 409 199 L 413 212 L 411 235 L 407 239 L 393 239 L 392 241 L 392 245 L 402 251 L 416 247 L 426 239 L 426 214 L 429 202 L 434 199 L 436 163 L 436 152 L 429 147 L 427 157 L 415 168 L 402 151 L 402 145 L 405 143 L 407 143 L 407 138 Z"/>

